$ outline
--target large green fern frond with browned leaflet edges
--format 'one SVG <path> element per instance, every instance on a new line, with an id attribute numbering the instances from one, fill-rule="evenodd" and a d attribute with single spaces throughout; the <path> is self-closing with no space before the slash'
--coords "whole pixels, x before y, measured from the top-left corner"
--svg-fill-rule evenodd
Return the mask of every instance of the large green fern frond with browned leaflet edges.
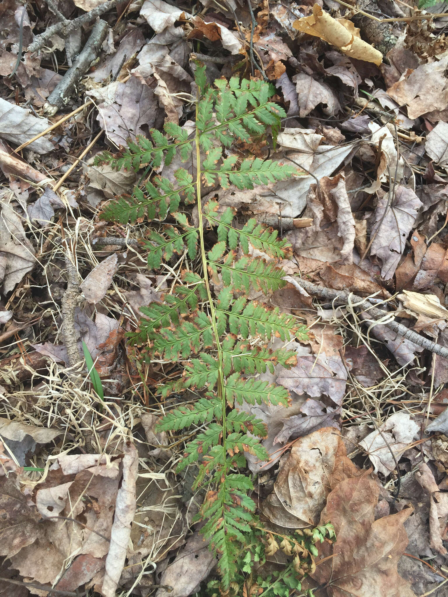
<path id="1" fill-rule="evenodd" d="M 179 125 L 168 122 L 165 134 L 151 130 L 151 140 L 139 137 L 119 156 L 103 153 L 97 162 L 114 168 L 157 169 L 168 165 L 176 152 L 183 162 L 197 164 L 195 180 L 179 168 L 177 184 L 155 176 L 146 191 L 136 189 L 133 196 L 109 204 L 103 213 L 107 220 L 123 224 L 147 217 L 165 220 L 163 229 L 152 230 L 146 241 L 148 266 L 158 269 L 162 260 L 186 251 L 193 260 L 200 257 L 200 271 L 185 270 L 182 283 L 165 294 L 160 303 L 142 308 L 145 317 L 139 330 L 130 334 L 134 344 L 149 344 L 149 354 L 183 364 L 182 377 L 161 389 L 162 396 L 175 390 L 195 389 L 201 396 L 194 405 L 178 407 L 164 415 L 159 430 L 179 430 L 204 425 L 205 430 L 186 445 L 179 470 L 200 461 L 194 488 L 211 488 L 201 506 L 198 519 L 205 521 L 202 533 L 220 556 L 222 588 L 227 590 L 247 537 L 253 533 L 255 504 L 250 497 L 251 479 L 240 473 L 246 467 L 244 452 L 266 460 L 268 454 L 259 439 L 266 436 L 265 424 L 238 408 L 246 404 L 289 403 L 284 387 L 257 379 L 256 374 L 274 371 L 276 364 L 293 366 L 292 350 L 272 349 L 271 340 L 284 343 L 296 336 L 306 338 L 306 330 L 293 316 L 278 309 L 248 301 L 251 287 L 272 293 L 283 287 L 283 272 L 276 261 L 290 251 L 277 232 L 254 220 L 243 227 L 232 227 L 234 210 L 219 210 L 214 201 L 201 198 L 201 183 L 219 183 L 223 189 L 234 184 L 238 189 L 253 189 L 256 184 L 298 176 L 291 165 L 271 160 L 246 158 L 241 161 L 229 152 L 235 140 L 259 140 L 271 127 L 274 143 L 285 116 L 280 106 L 270 101 L 271 85 L 262 81 L 219 79 L 207 85 L 205 70 L 197 66 L 198 88 L 194 139 Z M 191 154 L 193 153 L 193 156 Z M 197 203 L 197 223 L 179 205 Z M 204 230 L 214 229 L 217 242 L 207 247 Z M 266 263 L 250 255 L 251 248 L 271 257 Z M 198 268 L 197 268 L 198 269 Z M 217 289 L 221 290 L 217 290 Z"/>

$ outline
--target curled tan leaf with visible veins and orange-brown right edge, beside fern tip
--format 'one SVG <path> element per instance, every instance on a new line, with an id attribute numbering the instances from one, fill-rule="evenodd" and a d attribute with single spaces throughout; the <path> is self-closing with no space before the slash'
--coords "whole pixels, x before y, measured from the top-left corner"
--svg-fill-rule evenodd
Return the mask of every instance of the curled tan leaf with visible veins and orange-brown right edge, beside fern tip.
<path id="1" fill-rule="evenodd" d="M 357 473 L 339 431 L 319 429 L 294 443 L 262 512 L 281 527 L 315 525 L 332 488 Z"/>

